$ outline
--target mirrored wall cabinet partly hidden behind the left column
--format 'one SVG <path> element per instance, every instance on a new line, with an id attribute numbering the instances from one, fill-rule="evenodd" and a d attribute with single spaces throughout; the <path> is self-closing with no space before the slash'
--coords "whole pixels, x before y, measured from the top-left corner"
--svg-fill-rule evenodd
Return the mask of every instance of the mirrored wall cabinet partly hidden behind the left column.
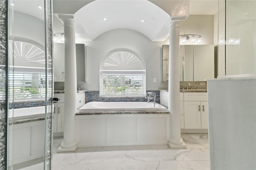
<path id="1" fill-rule="evenodd" d="M 64 43 L 54 43 L 54 82 L 65 81 Z M 76 80 L 86 81 L 86 46 L 76 44 Z"/>

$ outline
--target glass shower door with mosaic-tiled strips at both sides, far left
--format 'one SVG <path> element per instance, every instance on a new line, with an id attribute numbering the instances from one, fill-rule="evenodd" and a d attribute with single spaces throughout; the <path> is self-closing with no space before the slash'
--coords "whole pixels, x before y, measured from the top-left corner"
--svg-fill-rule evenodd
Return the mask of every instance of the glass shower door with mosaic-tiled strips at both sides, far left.
<path id="1" fill-rule="evenodd" d="M 0 2 L 0 169 L 51 166 L 51 3 Z"/>

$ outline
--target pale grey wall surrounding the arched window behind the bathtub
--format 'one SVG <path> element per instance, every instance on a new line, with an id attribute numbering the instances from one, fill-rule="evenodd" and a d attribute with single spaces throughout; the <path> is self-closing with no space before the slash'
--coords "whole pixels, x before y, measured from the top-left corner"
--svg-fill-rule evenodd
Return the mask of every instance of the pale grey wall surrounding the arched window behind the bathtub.
<path id="1" fill-rule="evenodd" d="M 143 34 L 134 30 L 116 29 L 98 36 L 86 44 L 87 82 L 80 85 L 80 89 L 98 91 L 100 62 L 110 51 L 126 48 L 137 53 L 146 64 L 146 89 L 168 89 L 168 82 L 161 82 L 161 46 L 165 42 L 152 42 Z M 157 83 L 153 83 L 153 78 Z"/>

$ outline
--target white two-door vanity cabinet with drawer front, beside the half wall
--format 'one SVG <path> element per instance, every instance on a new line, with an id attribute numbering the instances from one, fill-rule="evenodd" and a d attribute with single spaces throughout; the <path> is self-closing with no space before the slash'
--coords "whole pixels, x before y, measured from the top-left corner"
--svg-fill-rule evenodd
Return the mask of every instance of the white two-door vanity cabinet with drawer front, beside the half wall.
<path id="1" fill-rule="evenodd" d="M 208 129 L 207 93 L 184 92 L 184 128 Z"/>

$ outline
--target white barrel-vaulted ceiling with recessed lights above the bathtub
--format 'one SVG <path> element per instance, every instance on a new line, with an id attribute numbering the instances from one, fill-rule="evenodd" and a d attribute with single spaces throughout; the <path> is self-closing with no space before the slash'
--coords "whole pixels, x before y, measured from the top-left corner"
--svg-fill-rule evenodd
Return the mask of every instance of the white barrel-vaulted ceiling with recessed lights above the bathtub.
<path id="1" fill-rule="evenodd" d="M 105 17 L 107 20 L 103 20 Z M 170 16 L 147 0 L 96 0 L 78 10 L 74 18 L 90 40 L 109 30 L 126 28 L 138 31 L 155 41 L 159 39 L 158 33 Z"/>

